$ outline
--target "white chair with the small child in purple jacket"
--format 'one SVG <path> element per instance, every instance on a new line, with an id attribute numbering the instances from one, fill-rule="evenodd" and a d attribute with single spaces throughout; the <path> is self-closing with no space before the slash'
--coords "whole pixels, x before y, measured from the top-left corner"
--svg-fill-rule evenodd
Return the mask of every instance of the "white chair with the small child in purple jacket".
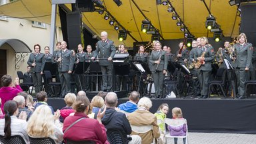
<path id="1" fill-rule="evenodd" d="M 185 127 L 187 129 L 187 119 L 168 119 L 166 118 L 165 119 L 165 123 L 170 126 L 170 127 L 181 127 L 181 125 L 184 125 L 185 124 Z M 188 131 L 188 129 L 187 129 Z M 188 132 L 186 131 L 186 135 L 185 136 L 175 136 L 175 135 L 170 135 L 170 134 L 166 134 L 165 137 L 168 138 L 168 137 L 171 137 L 171 138 L 186 138 L 186 141 L 185 143 L 187 144 L 187 134 Z"/>

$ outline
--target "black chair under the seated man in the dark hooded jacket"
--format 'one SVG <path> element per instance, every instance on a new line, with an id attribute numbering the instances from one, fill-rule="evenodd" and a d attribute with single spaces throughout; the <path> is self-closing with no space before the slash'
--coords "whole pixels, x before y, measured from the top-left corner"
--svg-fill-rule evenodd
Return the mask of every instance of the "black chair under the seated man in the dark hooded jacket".
<path id="1" fill-rule="evenodd" d="M 107 140 L 111 144 L 127 144 L 127 136 L 123 135 L 119 129 L 107 129 Z"/>

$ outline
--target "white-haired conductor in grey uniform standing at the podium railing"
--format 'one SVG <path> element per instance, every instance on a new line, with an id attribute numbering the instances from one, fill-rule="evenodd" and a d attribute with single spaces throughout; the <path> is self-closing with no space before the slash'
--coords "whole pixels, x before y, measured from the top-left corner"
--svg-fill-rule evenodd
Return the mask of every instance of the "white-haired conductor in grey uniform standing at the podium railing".
<path id="1" fill-rule="evenodd" d="M 103 76 L 103 91 L 112 91 L 112 79 L 113 79 L 113 57 L 115 55 L 115 45 L 113 41 L 107 39 L 107 32 L 101 32 L 101 41 L 98 41 L 96 44 L 96 50 L 93 53 L 91 59 L 95 59 L 98 56 L 99 65 L 101 65 L 102 75 L 111 75 Z"/>

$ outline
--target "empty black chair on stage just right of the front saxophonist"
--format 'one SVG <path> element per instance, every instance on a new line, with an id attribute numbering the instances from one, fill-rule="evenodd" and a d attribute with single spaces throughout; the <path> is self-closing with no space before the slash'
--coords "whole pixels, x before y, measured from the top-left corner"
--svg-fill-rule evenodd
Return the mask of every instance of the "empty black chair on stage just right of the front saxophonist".
<path id="1" fill-rule="evenodd" d="M 217 85 L 217 86 L 219 85 L 223 96 L 226 97 L 225 91 L 223 89 L 223 87 L 225 85 L 225 81 L 226 81 L 226 70 L 224 67 L 220 67 L 217 70 L 214 81 L 210 81 L 210 83 L 209 83 L 208 97 L 210 97 L 210 95 L 211 95 L 211 86 L 212 85 Z"/>

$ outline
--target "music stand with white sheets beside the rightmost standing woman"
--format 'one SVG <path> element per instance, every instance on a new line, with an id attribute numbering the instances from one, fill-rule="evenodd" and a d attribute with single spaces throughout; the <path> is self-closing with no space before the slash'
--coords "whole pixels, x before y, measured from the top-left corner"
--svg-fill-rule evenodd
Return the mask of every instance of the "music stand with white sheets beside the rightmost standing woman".
<path id="1" fill-rule="evenodd" d="M 232 67 L 231 63 L 227 61 L 227 59 L 224 59 L 224 64 L 225 64 L 225 67 L 227 68 L 227 72 L 231 73 L 231 79 L 229 79 L 229 81 L 231 81 L 231 87 L 233 90 L 233 99 L 235 99 L 235 97 L 237 97 L 237 85 L 235 83 L 237 81 L 237 77 L 235 75 L 235 69 Z"/>

